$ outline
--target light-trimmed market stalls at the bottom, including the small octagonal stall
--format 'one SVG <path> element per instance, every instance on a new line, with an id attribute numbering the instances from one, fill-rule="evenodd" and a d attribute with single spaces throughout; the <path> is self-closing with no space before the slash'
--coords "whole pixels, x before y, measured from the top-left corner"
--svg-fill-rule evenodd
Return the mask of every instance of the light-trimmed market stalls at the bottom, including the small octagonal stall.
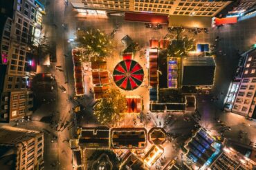
<path id="1" fill-rule="evenodd" d="M 166 132 L 160 127 L 149 131 L 145 128 L 81 127 L 77 134 L 77 139 L 69 141 L 74 167 L 81 167 L 82 150 L 112 148 L 122 160 L 120 169 L 149 169 L 163 155 L 162 145 L 166 141 Z"/>

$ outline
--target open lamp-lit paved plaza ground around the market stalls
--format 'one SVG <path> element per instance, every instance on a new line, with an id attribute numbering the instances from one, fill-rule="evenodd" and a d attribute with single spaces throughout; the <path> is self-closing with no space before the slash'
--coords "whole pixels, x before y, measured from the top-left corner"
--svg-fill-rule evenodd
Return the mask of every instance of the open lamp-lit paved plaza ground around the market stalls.
<path id="1" fill-rule="evenodd" d="M 49 98 L 55 98 L 54 101 L 49 103 L 42 103 L 40 107 L 33 114 L 33 120 L 27 123 L 21 123 L 18 127 L 25 127 L 28 129 L 37 129 L 40 131 L 50 131 L 45 133 L 45 149 L 44 149 L 44 161 L 45 169 L 72 169 L 72 154 L 71 149 L 68 147 L 68 140 L 75 134 L 75 125 L 73 129 L 64 129 L 64 131 L 54 131 L 48 123 L 40 121 L 45 116 L 54 115 L 54 120 L 58 123 L 63 123 L 66 121 L 76 122 L 77 116 L 71 114 L 71 109 L 75 102 L 70 100 L 74 96 L 74 80 L 73 80 L 73 62 L 71 59 L 71 48 L 75 47 L 75 44 L 68 43 L 68 39 L 75 38 L 75 31 L 77 28 L 98 28 L 103 30 L 107 34 L 110 34 L 115 28 L 116 24 L 120 25 L 119 30 L 114 36 L 114 41 L 118 43 L 115 55 L 112 59 L 109 59 L 108 70 L 110 74 L 113 72 L 113 68 L 116 64 L 122 61 L 120 52 L 124 50 L 124 45 L 121 43 L 123 36 L 128 34 L 131 39 L 136 41 L 140 47 L 141 52 L 137 52 L 134 56 L 134 60 L 138 61 L 143 67 L 145 77 L 143 85 L 144 87 L 138 87 L 134 91 L 124 91 L 126 95 L 136 95 L 143 96 L 145 101 L 145 113 L 149 109 L 149 92 L 148 92 L 148 78 L 147 78 L 147 68 L 145 67 L 146 56 L 144 50 L 148 48 L 149 39 L 163 39 L 165 34 L 167 34 L 167 25 L 163 25 L 161 30 L 153 30 L 145 28 L 144 23 L 139 22 L 128 22 L 124 21 L 123 17 L 110 16 L 107 18 L 100 17 L 84 17 L 72 8 L 71 3 L 68 6 L 64 5 L 64 1 L 48 0 L 46 1 L 46 15 L 43 19 L 43 34 L 51 39 L 51 41 L 56 43 L 56 56 L 57 63 L 51 63 L 50 67 L 44 68 L 40 67 L 40 72 L 51 72 L 55 75 L 57 86 L 63 85 L 66 88 L 66 94 L 62 93 L 59 88 L 56 88 L 53 94 L 49 94 Z M 66 24 L 66 28 L 62 28 L 62 23 Z M 53 26 L 56 24 L 57 27 Z M 217 54 L 215 56 L 215 61 L 217 63 L 216 76 L 214 78 L 214 87 L 212 89 L 212 94 L 209 96 L 197 96 L 197 107 L 201 113 L 201 121 L 199 124 L 206 129 L 214 131 L 217 129 L 217 122 L 214 118 L 220 118 L 221 121 L 226 123 L 227 126 L 231 127 L 231 131 L 227 131 L 224 135 L 232 140 L 239 140 L 239 131 L 246 131 L 248 136 L 239 142 L 256 142 L 256 121 L 246 120 L 244 117 L 232 114 L 224 113 L 223 109 L 223 99 L 226 92 L 228 92 L 228 86 L 232 80 L 232 76 L 235 73 L 235 67 L 238 63 L 238 53 L 248 50 L 251 44 L 256 42 L 256 18 L 248 19 L 247 21 L 241 21 L 235 25 L 224 25 L 221 28 L 213 28 L 210 30 L 209 34 L 200 33 L 195 35 L 197 43 L 214 43 L 216 36 L 219 36 L 221 41 L 217 45 Z M 239 52 L 237 51 L 239 50 Z M 64 56 L 66 55 L 66 57 Z M 55 65 L 61 65 L 64 72 L 55 70 Z M 112 85 L 113 78 L 111 77 Z M 93 103 L 93 95 L 89 93 L 91 88 L 91 81 L 88 76 L 85 82 L 86 86 L 86 96 L 84 100 L 81 101 L 82 105 L 85 106 L 85 111 L 82 115 L 79 115 L 80 121 L 78 121 L 78 126 L 91 127 L 96 126 L 93 118 L 93 109 L 91 108 Z M 210 99 L 212 96 L 218 96 L 219 100 L 217 102 L 212 102 Z M 147 125 L 140 123 L 139 121 L 136 127 L 146 127 L 150 129 L 151 127 L 163 126 L 166 114 L 152 114 L 150 113 L 152 121 L 149 121 Z M 183 137 L 191 132 L 194 127 L 194 121 L 187 123 L 183 120 L 183 114 L 173 115 L 172 122 L 168 127 L 166 127 L 167 132 L 181 134 L 181 140 Z M 120 127 L 134 127 L 134 119 L 136 116 L 127 116 L 125 122 L 120 123 Z M 159 125 L 161 122 L 161 125 Z M 45 130 L 46 129 L 46 130 Z M 56 142 L 51 142 L 53 136 L 57 136 Z M 179 139 L 176 140 L 179 142 Z M 166 142 L 165 148 L 170 148 L 165 152 L 165 157 L 167 160 L 172 160 L 176 156 L 179 156 L 181 151 L 176 151 L 177 143 Z M 179 153 L 179 154 L 177 154 Z M 181 161 L 179 156 L 178 161 Z M 53 162 L 57 162 L 57 166 L 53 167 Z M 166 162 L 167 163 L 167 162 Z M 155 166 L 152 167 L 155 169 Z"/>

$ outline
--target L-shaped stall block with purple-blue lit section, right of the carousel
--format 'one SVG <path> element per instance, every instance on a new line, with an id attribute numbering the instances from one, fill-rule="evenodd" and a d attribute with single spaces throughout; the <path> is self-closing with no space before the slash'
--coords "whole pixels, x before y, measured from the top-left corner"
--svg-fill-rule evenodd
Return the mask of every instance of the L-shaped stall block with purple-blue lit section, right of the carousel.
<path id="1" fill-rule="evenodd" d="M 194 111 L 196 99 L 179 94 L 181 58 L 167 56 L 169 40 L 149 40 L 149 109 L 162 111 Z"/>

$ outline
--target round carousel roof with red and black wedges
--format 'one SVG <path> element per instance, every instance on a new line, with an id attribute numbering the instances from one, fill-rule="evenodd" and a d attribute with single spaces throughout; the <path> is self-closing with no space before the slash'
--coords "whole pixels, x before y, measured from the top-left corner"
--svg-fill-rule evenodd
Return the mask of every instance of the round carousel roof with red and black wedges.
<path id="1" fill-rule="evenodd" d="M 113 70 L 113 81 L 118 87 L 133 90 L 143 83 L 143 67 L 134 60 L 120 61 Z"/>

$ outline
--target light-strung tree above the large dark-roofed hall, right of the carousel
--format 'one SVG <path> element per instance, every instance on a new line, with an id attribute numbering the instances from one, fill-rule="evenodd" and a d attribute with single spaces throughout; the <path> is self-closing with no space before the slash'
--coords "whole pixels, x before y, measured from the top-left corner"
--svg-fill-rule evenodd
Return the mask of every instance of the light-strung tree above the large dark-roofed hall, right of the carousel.
<path id="1" fill-rule="evenodd" d="M 168 56 L 185 56 L 188 51 L 195 50 L 194 37 L 184 34 L 184 28 L 172 28 L 167 38 L 171 40 L 167 48 Z"/>

